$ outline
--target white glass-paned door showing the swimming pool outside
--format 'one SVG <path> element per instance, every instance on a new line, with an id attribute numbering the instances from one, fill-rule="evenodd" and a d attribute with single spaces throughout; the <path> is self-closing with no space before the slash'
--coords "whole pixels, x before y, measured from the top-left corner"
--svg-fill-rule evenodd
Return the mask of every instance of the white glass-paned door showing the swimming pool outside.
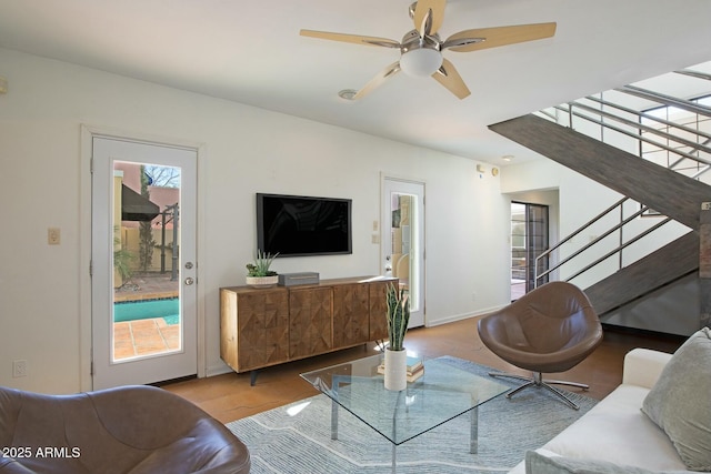
<path id="1" fill-rule="evenodd" d="M 197 150 L 92 147 L 93 389 L 197 374 Z"/>

